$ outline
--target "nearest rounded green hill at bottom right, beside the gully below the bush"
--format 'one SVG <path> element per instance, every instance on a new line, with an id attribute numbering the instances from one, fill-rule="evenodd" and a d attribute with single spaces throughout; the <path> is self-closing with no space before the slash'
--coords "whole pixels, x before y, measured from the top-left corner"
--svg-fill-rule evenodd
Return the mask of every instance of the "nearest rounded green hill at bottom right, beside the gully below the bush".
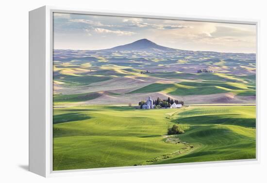
<path id="1" fill-rule="evenodd" d="M 196 150 L 159 162 L 187 163 L 255 158 L 255 130 L 232 125 L 192 126 L 179 136 Z"/>

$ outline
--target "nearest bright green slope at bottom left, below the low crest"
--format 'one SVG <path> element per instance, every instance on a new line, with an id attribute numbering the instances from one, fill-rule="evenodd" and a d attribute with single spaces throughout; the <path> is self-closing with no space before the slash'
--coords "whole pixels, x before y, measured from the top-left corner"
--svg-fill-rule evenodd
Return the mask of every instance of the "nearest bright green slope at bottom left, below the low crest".
<path id="1" fill-rule="evenodd" d="M 54 139 L 54 170 L 141 165 L 179 150 L 161 137 L 75 136 Z"/>

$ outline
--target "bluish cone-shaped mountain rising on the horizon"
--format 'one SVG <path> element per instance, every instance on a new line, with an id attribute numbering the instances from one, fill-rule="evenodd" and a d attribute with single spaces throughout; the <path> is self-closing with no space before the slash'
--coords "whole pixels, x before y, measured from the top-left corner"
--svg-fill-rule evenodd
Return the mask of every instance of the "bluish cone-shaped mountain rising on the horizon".
<path id="1" fill-rule="evenodd" d="M 140 39 L 137 41 L 134 41 L 133 43 L 117 46 L 111 49 L 105 49 L 101 51 L 167 51 L 167 52 L 176 52 L 177 49 L 172 49 L 168 47 L 163 47 L 160 45 L 157 45 L 156 43 L 148 40 L 148 39 Z"/>

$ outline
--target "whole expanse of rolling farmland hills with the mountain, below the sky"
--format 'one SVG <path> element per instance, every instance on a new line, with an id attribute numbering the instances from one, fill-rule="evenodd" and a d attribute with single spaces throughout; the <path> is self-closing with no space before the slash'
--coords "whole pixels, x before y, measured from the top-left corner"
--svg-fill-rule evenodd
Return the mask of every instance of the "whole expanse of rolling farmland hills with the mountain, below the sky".
<path id="1" fill-rule="evenodd" d="M 256 156 L 255 54 L 140 39 L 104 50 L 54 50 L 53 59 L 54 170 Z M 140 109 L 148 97 L 184 106 Z M 168 135 L 174 124 L 185 133 Z"/>

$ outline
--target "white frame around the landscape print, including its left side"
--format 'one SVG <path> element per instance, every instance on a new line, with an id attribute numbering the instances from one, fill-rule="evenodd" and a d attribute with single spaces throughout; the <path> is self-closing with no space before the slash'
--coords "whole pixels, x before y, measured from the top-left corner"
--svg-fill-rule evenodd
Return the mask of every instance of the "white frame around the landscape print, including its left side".
<path id="1" fill-rule="evenodd" d="M 122 17 L 146 17 L 146 18 L 162 18 L 162 19 L 179 19 L 191 21 L 209 21 L 209 22 L 225 22 L 239 24 L 256 25 L 257 42 L 256 42 L 256 159 L 245 160 L 227 160 L 212 161 L 200 163 L 180 163 L 166 165 L 149 165 L 149 166 L 124 166 L 124 167 L 108 167 L 108 168 L 90 168 L 77 170 L 52 170 L 52 53 L 53 53 L 53 32 L 52 32 L 52 13 L 77 13 L 91 15 L 106 16 L 122 16 Z M 44 19 L 45 17 L 45 19 Z M 34 25 L 33 25 L 34 23 Z M 43 6 L 41 8 L 29 12 L 29 171 L 44 177 L 54 176 L 73 176 L 88 175 L 102 173 L 118 173 L 118 172 L 138 172 L 150 170 L 166 170 L 180 168 L 196 168 L 210 166 L 231 166 L 231 165 L 247 165 L 260 163 L 260 91 L 259 91 L 259 24 L 260 20 L 221 18 L 221 17 L 196 17 L 196 16 L 179 16 L 173 14 L 159 13 L 140 13 L 140 12 L 123 12 L 105 11 L 105 10 L 88 10 L 76 8 L 63 8 L 54 6 Z M 38 35 L 39 34 L 39 35 Z M 38 35 L 42 41 L 33 40 L 33 35 Z M 44 45 L 45 44 L 45 45 Z M 36 51 L 37 49 L 37 51 Z M 40 49 L 40 50 L 38 50 Z M 44 52 L 42 52 L 43 50 Z M 41 52 L 38 52 L 41 51 Z M 38 61 L 36 61 L 36 59 Z M 35 65 L 34 65 L 35 64 Z M 45 66 L 44 66 L 45 64 Z M 35 67 L 41 69 L 41 72 L 34 71 Z M 35 87 L 36 82 L 44 77 L 45 81 L 41 83 L 41 87 Z M 33 78 L 36 78 L 35 83 Z M 39 82 L 40 83 L 40 82 Z M 43 84 L 43 85 L 42 85 Z M 44 92 L 45 93 L 42 93 Z M 41 95 L 39 95 L 41 93 Z M 36 100 L 40 99 L 40 100 Z M 35 102 L 34 102 L 35 101 Z M 37 107 L 39 106 L 39 107 Z M 45 108 L 44 108 L 45 107 Z M 40 119 L 40 114 L 43 118 Z M 44 115 L 45 114 L 45 115 Z M 45 126 L 44 126 L 45 123 Z M 38 132 L 38 133 L 36 133 Z M 38 160 L 38 161 L 37 161 Z"/>

